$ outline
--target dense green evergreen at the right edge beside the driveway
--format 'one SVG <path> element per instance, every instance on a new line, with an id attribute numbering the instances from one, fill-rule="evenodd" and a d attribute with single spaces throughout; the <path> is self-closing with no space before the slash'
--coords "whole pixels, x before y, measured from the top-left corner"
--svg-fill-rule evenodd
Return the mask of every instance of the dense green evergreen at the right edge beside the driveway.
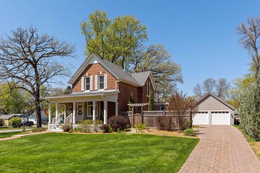
<path id="1" fill-rule="evenodd" d="M 260 139 L 260 84 L 254 83 L 243 90 L 240 102 L 240 120 L 243 130 Z"/>

